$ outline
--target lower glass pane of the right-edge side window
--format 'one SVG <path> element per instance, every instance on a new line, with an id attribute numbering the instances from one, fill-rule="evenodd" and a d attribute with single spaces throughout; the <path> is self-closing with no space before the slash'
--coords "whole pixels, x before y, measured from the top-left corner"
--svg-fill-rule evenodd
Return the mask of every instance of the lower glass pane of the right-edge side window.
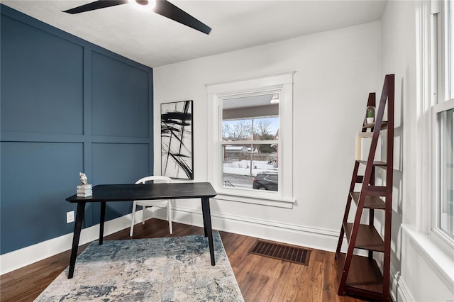
<path id="1" fill-rule="evenodd" d="M 440 122 L 440 211 L 438 228 L 454 237 L 453 216 L 453 140 L 454 109 L 438 113 Z"/>

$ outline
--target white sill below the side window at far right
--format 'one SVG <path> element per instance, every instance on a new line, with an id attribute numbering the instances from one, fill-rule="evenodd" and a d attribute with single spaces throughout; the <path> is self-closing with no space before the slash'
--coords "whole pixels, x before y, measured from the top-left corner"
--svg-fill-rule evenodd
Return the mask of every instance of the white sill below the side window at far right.
<path id="1" fill-rule="evenodd" d="M 433 268 L 443 283 L 449 289 L 454 289 L 453 248 L 448 247 L 445 242 L 441 242 L 436 235 L 416 232 L 409 225 L 402 225 L 402 230 L 409 235 L 410 244 Z"/>

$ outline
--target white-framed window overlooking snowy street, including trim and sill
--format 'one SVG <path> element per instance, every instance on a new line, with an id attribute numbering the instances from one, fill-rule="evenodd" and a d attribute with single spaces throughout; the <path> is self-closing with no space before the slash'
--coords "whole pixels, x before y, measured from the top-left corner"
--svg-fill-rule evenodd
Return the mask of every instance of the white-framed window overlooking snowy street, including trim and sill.
<path id="1" fill-rule="evenodd" d="M 218 198 L 292 207 L 292 85 L 293 72 L 206 85 Z"/>

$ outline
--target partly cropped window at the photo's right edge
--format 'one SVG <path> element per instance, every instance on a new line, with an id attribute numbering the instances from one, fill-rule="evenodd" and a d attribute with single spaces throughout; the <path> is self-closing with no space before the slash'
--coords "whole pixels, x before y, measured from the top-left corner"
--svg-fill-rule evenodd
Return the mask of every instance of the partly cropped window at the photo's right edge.
<path id="1" fill-rule="evenodd" d="M 432 229 L 454 244 L 454 6 L 440 1 L 432 17 L 433 193 Z"/>

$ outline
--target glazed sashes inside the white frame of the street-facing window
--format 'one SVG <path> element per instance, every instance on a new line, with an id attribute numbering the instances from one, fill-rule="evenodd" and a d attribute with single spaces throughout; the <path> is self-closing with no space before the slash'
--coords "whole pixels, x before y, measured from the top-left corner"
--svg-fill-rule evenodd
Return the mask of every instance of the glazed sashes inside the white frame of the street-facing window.
<path id="1" fill-rule="evenodd" d="M 224 187 L 279 191 L 279 91 L 221 99 Z M 275 174 L 275 185 L 267 177 Z"/>

